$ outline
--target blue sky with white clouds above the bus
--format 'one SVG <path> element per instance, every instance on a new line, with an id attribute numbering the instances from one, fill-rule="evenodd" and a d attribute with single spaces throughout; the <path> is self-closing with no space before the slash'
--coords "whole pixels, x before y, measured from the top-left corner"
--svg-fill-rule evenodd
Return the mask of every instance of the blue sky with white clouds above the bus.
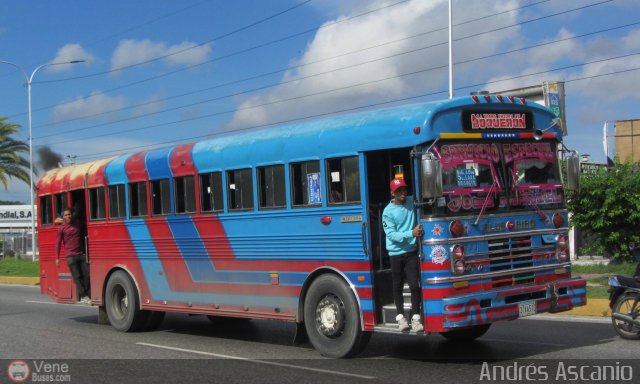
<path id="1" fill-rule="evenodd" d="M 565 145 L 640 118 L 640 0 L 453 0 L 454 94 L 565 82 Z M 0 2 L 0 116 L 80 163 L 449 94 L 447 0 Z M 613 140 L 609 141 L 613 152 Z M 29 202 L 12 180 L 0 200 Z"/>

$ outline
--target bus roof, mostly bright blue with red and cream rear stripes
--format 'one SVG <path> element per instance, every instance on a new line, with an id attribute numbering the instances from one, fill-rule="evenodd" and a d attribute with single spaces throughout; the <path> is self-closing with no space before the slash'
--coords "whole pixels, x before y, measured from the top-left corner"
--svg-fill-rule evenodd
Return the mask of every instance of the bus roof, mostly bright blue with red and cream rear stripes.
<path id="1" fill-rule="evenodd" d="M 412 147 L 435 140 L 442 134 L 462 133 L 461 112 L 465 110 L 496 114 L 528 111 L 533 116 L 533 127 L 540 129 L 549 126 L 555 117 L 551 111 L 531 101 L 496 95 L 400 105 L 312 121 L 231 131 L 195 144 L 180 144 L 72 165 L 45 173 L 38 188 L 40 194 L 46 194 L 51 188 L 58 190 L 54 186 L 63 187 L 67 184 L 79 187 L 79 180 L 75 179 L 84 176 L 89 176 L 97 183 L 100 177 L 91 178 L 93 172 L 105 172 L 108 184 L 122 184 L 185 174 L 187 168 L 195 168 L 197 172 L 212 172 Z M 550 132 L 561 138 L 559 128 Z M 144 167 L 141 167 L 141 163 L 144 163 Z M 74 180 L 67 180 L 70 175 L 74 176 Z"/>

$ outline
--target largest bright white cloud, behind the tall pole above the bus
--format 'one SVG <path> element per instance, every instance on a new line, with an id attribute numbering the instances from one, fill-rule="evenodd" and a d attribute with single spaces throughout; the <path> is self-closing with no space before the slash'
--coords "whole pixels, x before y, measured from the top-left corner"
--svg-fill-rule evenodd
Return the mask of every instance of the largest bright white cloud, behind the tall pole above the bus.
<path id="1" fill-rule="evenodd" d="M 352 5 L 353 3 L 350 2 Z M 367 4 L 369 9 L 375 9 L 387 3 L 361 1 L 360 4 Z M 497 13 L 505 8 L 515 8 L 515 4 L 517 3 L 514 1 L 492 2 L 492 9 L 487 9 L 486 2 L 470 2 L 459 11 L 457 18 L 460 21 L 469 20 L 478 14 Z M 361 14 L 364 8 L 356 9 L 327 24 Z M 414 0 L 319 29 L 306 51 L 292 63 L 303 66 L 285 73 L 282 84 L 270 92 L 239 99 L 239 110 L 228 128 L 307 116 L 310 115 L 309 111 L 319 114 L 344 109 L 345 106 L 362 106 L 421 92 L 446 91 L 446 15 L 446 0 Z M 502 14 L 492 20 L 492 25 L 509 25 L 516 20 L 515 13 Z M 445 29 L 425 33 L 442 28 Z M 477 25 L 462 25 L 455 31 L 454 38 L 478 35 Z M 470 40 L 456 42 L 456 60 L 495 53 L 504 45 L 515 44 L 518 38 L 517 34 L 491 33 L 478 35 L 473 41 Z M 390 41 L 397 42 L 383 44 Z M 378 47 L 363 49 L 372 46 Z M 420 49 L 425 47 L 430 48 Z M 360 52 L 344 55 L 358 50 Z M 403 54 L 412 50 L 416 51 Z M 336 58 L 325 60 L 330 57 Z M 389 58 L 383 59 L 385 57 Z M 365 62 L 369 63 L 357 65 Z M 343 69 L 345 67 L 350 68 Z M 437 67 L 440 68 L 425 71 Z M 500 70 L 485 69 L 494 73 L 499 73 Z M 403 76 L 416 71 L 422 72 Z M 327 73 L 314 76 L 325 72 Z M 475 71 L 473 66 L 461 67 L 459 76 L 472 78 L 476 72 L 478 71 Z M 301 80 L 293 81 L 294 79 Z M 386 80 L 379 81 L 382 79 Z M 482 79 L 486 79 L 486 72 Z M 344 89 L 332 91 L 339 88 Z M 275 103 L 314 93 L 321 94 L 299 98 L 293 102 Z M 443 96 L 445 95 L 446 92 Z M 260 106 L 266 103 L 272 104 Z"/>

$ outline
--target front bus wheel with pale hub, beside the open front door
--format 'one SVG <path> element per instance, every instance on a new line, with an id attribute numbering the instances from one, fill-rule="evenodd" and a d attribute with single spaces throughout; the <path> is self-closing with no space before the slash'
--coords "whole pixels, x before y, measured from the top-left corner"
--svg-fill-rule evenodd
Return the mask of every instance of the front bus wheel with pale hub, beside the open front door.
<path id="1" fill-rule="evenodd" d="M 360 326 L 358 303 L 335 275 L 323 275 L 309 287 L 304 300 L 309 341 L 323 356 L 349 357 L 364 348 L 371 336 Z"/>

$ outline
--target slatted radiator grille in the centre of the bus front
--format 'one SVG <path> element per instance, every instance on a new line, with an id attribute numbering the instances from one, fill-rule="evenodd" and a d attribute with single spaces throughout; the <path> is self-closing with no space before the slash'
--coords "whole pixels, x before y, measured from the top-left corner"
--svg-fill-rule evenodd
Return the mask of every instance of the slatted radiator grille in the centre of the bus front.
<path id="1" fill-rule="evenodd" d="M 489 272 L 507 271 L 533 266 L 530 237 L 489 240 Z M 533 272 L 492 278 L 493 288 L 532 283 Z"/>

